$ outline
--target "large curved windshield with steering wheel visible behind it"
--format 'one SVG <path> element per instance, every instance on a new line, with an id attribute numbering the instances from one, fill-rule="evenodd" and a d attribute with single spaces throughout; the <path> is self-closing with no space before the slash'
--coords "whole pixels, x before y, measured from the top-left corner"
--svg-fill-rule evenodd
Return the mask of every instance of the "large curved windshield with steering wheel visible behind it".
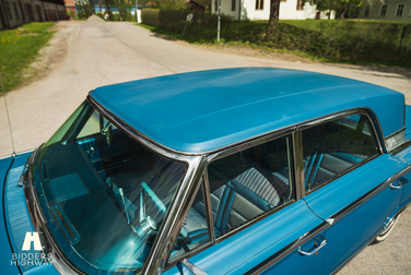
<path id="1" fill-rule="evenodd" d="M 87 274 L 136 273 L 185 171 L 85 101 L 42 148 L 33 187 L 70 262 Z"/>

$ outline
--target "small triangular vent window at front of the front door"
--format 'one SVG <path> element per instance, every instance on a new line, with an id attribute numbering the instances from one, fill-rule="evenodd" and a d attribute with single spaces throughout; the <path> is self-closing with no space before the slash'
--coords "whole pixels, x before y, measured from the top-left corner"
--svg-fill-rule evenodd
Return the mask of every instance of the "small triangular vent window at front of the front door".
<path id="1" fill-rule="evenodd" d="M 185 218 L 183 228 L 168 261 L 195 250 L 210 240 L 204 205 L 203 183 L 197 192 L 191 208 Z"/>

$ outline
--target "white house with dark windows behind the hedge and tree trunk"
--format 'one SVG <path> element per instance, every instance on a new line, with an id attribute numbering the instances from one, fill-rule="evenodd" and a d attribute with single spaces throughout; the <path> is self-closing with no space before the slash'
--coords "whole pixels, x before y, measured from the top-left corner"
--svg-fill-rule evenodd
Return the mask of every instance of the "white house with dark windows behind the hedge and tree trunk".
<path id="1" fill-rule="evenodd" d="M 221 12 L 236 20 L 268 20 L 270 17 L 270 0 L 211 0 L 211 12 Z M 282 0 L 280 20 L 328 19 L 327 12 L 318 12 L 315 5 L 302 4 L 302 0 Z M 331 19 L 336 13 L 331 11 Z"/>

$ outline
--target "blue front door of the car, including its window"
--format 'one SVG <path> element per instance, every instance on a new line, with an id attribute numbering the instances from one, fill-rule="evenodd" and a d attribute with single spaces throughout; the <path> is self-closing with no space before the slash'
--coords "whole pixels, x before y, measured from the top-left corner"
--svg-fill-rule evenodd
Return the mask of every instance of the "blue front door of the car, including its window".
<path id="1" fill-rule="evenodd" d="M 329 224 L 300 199 L 292 144 L 289 134 L 210 156 L 164 274 L 321 273 Z"/>

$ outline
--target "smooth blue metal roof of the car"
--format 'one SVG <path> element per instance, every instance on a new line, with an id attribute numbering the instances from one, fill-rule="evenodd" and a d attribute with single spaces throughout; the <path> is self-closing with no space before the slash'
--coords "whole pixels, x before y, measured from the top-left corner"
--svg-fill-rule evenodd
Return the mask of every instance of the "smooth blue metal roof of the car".
<path id="1" fill-rule="evenodd" d="M 385 135 L 403 128 L 403 95 L 297 70 L 221 69 L 98 87 L 91 97 L 143 136 L 201 154 L 352 108 L 371 108 Z"/>

